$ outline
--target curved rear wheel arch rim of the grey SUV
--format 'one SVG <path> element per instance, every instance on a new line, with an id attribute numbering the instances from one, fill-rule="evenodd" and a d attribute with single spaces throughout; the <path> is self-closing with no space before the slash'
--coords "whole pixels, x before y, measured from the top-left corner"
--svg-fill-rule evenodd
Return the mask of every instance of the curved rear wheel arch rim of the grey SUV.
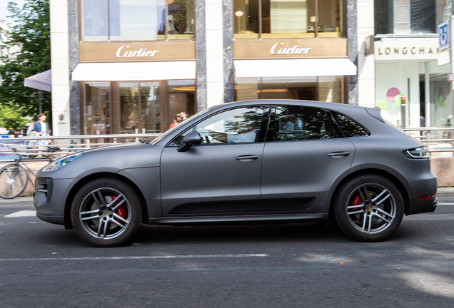
<path id="1" fill-rule="evenodd" d="M 392 175 L 391 173 L 388 173 L 385 170 L 381 169 L 375 169 L 375 168 L 367 168 L 367 169 L 361 169 L 361 170 L 356 170 L 353 173 L 348 174 L 343 180 L 338 183 L 336 188 L 333 190 L 333 194 L 331 195 L 331 200 L 330 200 L 330 207 L 329 207 L 329 214 L 328 214 L 328 220 L 329 222 L 333 222 L 333 209 L 334 209 L 334 203 L 336 201 L 336 195 L 338 194 L 340 188 L 348 182 L 348 180 L 355 178 L 358 175 L 381 175 L 383 178 L 387 178 L 395 186 L 397 186 L 398 190 L 400 193 L 402 193 L 402 198 L 403 198 L 403 204 L 404 204 L 404 213 L 407 214 L 408 212 L 408 207 L 410 206 L 410 197 L 408 195 L 408 191 L 405 188 L 405 185 L 403 185 L 402 182 L 398 178 L 395 177 L 395 175 Z"/>

